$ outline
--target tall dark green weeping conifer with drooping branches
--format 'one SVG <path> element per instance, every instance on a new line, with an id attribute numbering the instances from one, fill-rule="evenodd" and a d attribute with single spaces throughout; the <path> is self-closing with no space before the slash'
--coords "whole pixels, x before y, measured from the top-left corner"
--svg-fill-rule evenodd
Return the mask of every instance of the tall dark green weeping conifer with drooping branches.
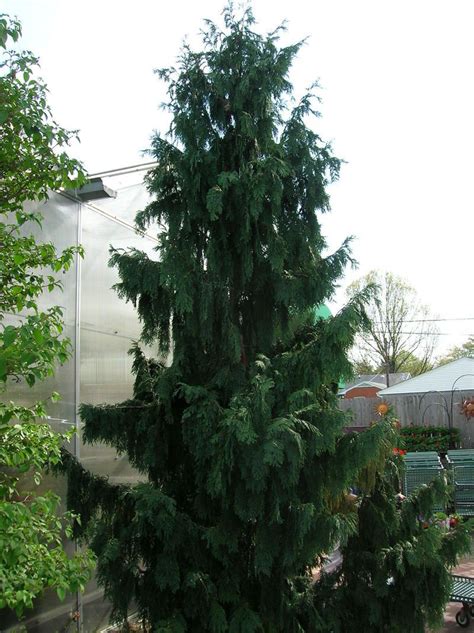
<path id="1" fill-rule="evenodd" d="M 81 407 L 86 442 L 126 453 L 143 475 L 112 485 L 70 460 L 69 505 L 98 555 L 98 578 L 125 618 L 153 631 L 321 630 L 312 569 L 355 530 L 346 499 L 390 450 L 389 425 L 344 435 L 335 385 L 363 322 L 364 292 L 312 323 L 349 244 L 323 256 L 318 216 L 340 161 L 308 126 L 311 94 L 289 103 L 301 43 L 253 31 L 247 11 L 207 22 L 168 82 L 172 126 L 155 136 L 156 260 L 115 251 L 118 292 L 136 305 L 133 397 Z"/>

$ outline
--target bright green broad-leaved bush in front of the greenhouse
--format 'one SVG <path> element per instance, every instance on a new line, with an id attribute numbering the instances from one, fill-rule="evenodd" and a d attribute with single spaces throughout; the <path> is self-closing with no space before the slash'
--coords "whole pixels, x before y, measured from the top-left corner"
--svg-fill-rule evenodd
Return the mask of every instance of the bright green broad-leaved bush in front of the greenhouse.
<path id="1" fill-rule="evenodd" d="M 9 399 L 12 382 L 33 387 L 70 357 L 61 308 L 42 309 L 41 296 L 61 287 L 57 274 L 80 253 L 38 241 L 41 214 L 23 205 L 83 180 L 65 152 L 75 133 L 52 119 L 46 86 L 34 76 L 37 59 L 7 48 L 20 35 L 20 24 L 0 15 L 0 609 L 19 616 L 47 587 L 60 598 L 83 587 L 93 568 L 90 552 L 67 556 L 62 539 L 72 517 L 58 512 L 57 495 L 36 488 L 70 434 L 40 422 L 47 402 Z"/>

